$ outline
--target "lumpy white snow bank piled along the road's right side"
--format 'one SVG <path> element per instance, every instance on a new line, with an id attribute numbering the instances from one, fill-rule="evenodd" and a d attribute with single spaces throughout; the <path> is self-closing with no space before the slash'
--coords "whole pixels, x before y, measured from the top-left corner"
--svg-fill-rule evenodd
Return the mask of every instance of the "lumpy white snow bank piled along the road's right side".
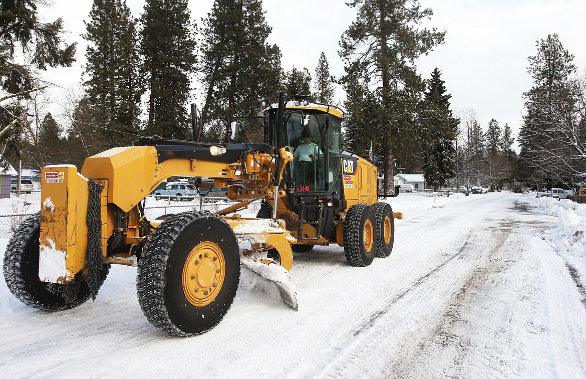
<path id="1" fill-rule="evenodd" d="M 544 232 L 543 237 L 577 272 L 582 286 L 586 286 L 586 204 L 549 197 L 527 200 L 541 214 L 558 216 L 557 228 Z"/>

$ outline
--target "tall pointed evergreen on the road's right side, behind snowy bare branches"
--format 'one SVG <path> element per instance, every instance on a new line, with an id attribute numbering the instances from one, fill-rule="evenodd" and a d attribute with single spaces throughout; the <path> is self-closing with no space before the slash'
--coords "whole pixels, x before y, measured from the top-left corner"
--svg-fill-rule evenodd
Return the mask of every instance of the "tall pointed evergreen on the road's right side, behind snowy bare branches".
<path id="1" fill-rule="evenodd" d="M 546 176 L 572 184 L 584 171 L 584 130 L 577 114 L 577 83 L 574 56 L 565 50 L 557 35 L 537 42 L 537 55 L 529 57 L 527 72 L 533 87 L 523 94 L 526 114 L 519 133 L 520 164 L 526 180 L 540 184 Z"/>

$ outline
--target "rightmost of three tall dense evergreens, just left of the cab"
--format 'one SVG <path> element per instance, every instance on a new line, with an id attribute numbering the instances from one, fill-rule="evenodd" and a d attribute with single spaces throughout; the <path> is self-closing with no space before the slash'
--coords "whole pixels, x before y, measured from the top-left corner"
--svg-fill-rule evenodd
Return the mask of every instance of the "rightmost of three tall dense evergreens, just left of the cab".
<path id="1" fill-rule="evenodd" d="M 266 43 L 271 28 L 264 15 L 261 0 L 216 0 L 202 20 L 203 138 L 218 138 L 230 117 L 255 116 L 260 97 L 277 99 L 281 50 Z M 251 125 L 240 132 L 243 140 L 258 134 Z"/>

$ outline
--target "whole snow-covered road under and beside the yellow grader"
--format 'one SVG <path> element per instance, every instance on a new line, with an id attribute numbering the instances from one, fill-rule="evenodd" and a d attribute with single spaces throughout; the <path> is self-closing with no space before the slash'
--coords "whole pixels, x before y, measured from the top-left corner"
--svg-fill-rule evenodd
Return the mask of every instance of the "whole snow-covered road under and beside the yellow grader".
<path id="1" fill-rule="evenodd" d="M 389 202 L 401 211 L 406 199 Z M 585 377 L 586 305 L 541 239 L 557 218 L 525 199 L 406 212 L 391 256 L 367 268 L 338 246 L 296 255 L 297 313 L 243 270 L 226 318 L 189 339 L 147 322 L 132 268 L 60 313 L 2 282 L 0 377 Z"/>

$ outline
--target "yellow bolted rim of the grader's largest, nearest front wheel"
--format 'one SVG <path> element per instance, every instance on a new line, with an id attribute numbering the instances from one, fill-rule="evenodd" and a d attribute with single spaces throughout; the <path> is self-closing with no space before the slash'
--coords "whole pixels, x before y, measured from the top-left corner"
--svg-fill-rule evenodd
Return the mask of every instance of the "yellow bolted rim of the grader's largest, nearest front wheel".
<path id="1" fill-rule="evenodd" d="M 213 302 L 226 276 L 226 260 L 220 246 L 201 242 L 189 253 L 183 266 L 183 293 L 196 307 Z"/>

